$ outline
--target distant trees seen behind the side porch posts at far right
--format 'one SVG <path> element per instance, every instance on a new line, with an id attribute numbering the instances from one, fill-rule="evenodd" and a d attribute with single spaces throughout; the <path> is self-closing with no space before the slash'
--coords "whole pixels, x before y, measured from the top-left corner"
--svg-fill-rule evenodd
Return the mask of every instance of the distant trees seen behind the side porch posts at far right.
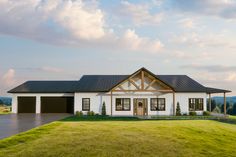
<path id="1" fill-rule="evenodd" d="M 207 101 L 207 111 L 210 111 L 209 100 Z M 224 104 L 216 103 L 213 99 L 211 100 L 211 111 L 215 113 L 224 113 Z M 226 102 L 226 113 L 230 115 L 236 115 L 236 103 Z"/>

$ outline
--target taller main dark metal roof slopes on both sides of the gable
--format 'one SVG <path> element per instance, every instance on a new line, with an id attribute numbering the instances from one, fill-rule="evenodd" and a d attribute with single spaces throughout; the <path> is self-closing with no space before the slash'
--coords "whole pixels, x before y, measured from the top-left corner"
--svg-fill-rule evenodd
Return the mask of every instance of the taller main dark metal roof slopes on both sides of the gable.
<path id="1" fill-rule="evenodd" d="M 108 92 L 130 75 L 84 75 L 77 92 Z M 206 92 L 206 88 L 186 75 L 156 75 L 176 92 Z"/>

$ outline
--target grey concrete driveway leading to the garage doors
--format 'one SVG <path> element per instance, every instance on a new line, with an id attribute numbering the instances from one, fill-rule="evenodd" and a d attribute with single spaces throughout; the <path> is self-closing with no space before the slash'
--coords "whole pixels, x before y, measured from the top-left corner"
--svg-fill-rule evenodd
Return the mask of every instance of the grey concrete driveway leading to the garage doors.
<path id="1" fill-rule="evenodd" d="M 0 115 L 0 139 L 71 116 L 67 113 Z"/>

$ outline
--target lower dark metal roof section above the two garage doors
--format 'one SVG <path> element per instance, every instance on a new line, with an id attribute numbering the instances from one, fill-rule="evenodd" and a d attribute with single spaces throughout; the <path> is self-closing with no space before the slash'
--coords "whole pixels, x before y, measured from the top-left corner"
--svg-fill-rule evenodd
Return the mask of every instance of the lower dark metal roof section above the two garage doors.
<path id="1" fill-rule="evenodd" d="M 74 93 L 78 81 L 27 81 L 9 93 Z"/>

